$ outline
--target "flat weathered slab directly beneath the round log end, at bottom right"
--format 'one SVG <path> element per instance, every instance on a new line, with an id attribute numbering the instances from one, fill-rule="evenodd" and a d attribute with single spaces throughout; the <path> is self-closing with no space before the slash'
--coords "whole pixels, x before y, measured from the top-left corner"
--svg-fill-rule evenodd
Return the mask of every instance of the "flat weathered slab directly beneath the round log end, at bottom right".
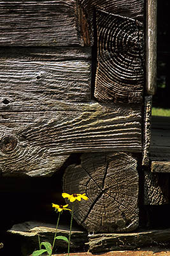
<path id="1" fill-rule="evenodd" d="M 158 246 L 159 244 L 166 246 L 169 245 L 169 239 L 169 228 L 143 230 L 128 234 L 94 234 L 89 236 L 89 246 L 90 252 L 101 253 L 113 250 L 134 250 L 145 246 Z M 139 255 L 145 255 L 145 253 Z"/>

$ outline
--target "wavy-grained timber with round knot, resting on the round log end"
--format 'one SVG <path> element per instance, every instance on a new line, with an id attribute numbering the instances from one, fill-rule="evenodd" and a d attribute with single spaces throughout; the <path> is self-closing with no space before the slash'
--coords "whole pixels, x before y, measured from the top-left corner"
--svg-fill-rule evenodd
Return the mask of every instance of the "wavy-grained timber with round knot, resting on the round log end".
<path id="1" fill-rule="evenodd" d="M 18 109 L 1 111 L 3 175 L 52 175 L 75 152 L 141 152 L 140 108 L 58 102 L 58 111 Z"/>

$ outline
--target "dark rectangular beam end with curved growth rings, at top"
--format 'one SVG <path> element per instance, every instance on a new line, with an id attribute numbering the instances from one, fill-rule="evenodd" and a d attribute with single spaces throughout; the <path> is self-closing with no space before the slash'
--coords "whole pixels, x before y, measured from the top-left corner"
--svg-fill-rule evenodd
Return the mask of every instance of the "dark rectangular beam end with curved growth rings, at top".
<path id="1" fill-rule="evenodd" d="M 97 72 L 94 96 L 106 102 L 143 99 L 143 24 L 108 12 L 96 12 Z"/>

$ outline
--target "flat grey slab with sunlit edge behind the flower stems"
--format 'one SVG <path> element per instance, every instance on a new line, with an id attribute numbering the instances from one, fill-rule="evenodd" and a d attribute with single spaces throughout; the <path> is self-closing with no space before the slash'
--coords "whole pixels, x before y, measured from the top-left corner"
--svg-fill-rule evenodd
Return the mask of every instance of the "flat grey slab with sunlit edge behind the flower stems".
<path id="1" fill-rule="evenodd" d="M 11 234 L 13 238 L 20 237 L 20 243 L 22 249 L 27 251 L 26 255 L 30 255 L 33 250 L 38 250 L 38 235 L 42 241 L 48 241 L 53 243 L 53 237 L 55 235 L 55 224 L 41 223 L 38 221 L 27 221 L 24 223 L 18 223 L 13 225 L 7 232 Z M 69 226 L 59 225 L 57 230 L 57 236 L 69 237 Z M 80 251 L 85 248 L 85 243 L 87 243 L 87 233 L 82 231 L 80 228 L 73 227 L 73 232 L 71 234 L 71 250 Z M 54 251 L 57 250 L 67 250 L 67 243 L 62 240 L 55 241 Z"/>

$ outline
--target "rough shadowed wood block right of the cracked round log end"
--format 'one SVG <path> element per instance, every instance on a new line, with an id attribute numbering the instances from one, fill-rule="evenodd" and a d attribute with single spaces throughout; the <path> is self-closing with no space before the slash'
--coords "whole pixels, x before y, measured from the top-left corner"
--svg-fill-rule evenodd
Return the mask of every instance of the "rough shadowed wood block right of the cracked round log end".
<path id="1" fill-rule="evenodd" d="M 169 177 L 165 174 L 145 172 L 145 205 L 169 203 Z"/>

